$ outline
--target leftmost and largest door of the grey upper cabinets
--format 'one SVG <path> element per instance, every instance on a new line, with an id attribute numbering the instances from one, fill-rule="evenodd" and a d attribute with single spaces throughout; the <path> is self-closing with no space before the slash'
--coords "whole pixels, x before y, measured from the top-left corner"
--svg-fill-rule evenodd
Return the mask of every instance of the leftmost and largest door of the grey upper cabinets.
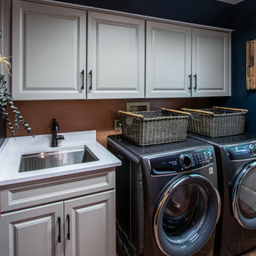
<path id="1" fill-rule="evenodd" d="M 15 100 L 85 99 L 86 12 L 13 2 Z"/>

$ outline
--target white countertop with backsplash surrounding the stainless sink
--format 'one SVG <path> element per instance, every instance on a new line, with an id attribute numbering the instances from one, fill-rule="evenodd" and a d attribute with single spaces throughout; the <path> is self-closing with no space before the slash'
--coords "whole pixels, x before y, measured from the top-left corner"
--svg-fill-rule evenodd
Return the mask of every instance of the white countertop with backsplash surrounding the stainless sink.
<path id="1" fill-rule="evenodd" d="M 119 159 L 111 154 L 110 151 L 107 151 L 104 146 L 96 142 L 96 131 L 60 132 L 59 134 L 63 135 L 65 140 L 58 140 L 58 147 L 55 148 L 50 146 L 51 134 L 37 135 L 34 138 L 26 136 L 6 139 L 0 148 L 0 186 L 36 181 L 41 178 L 78 174 L 121 165 Z M 98 161 L 36 171 L 18 172 L 22 154 L 58 151 L 60 149 L 69 149 L 70 147 L 84 145 L 95 154 L 97 159 L 99 159 Z"/>

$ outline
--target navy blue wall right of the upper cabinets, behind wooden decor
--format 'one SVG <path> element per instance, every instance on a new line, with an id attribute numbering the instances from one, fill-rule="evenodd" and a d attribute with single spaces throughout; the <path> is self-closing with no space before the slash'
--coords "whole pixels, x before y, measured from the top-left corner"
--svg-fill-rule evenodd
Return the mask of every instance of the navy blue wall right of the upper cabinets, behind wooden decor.
<path id="1" fill-rule="evenodd" d="M 223 101 L 226 107 L 249 110 L 245 131 L 256 133 L 256 90 L 246 89 L 246 41 L 256 39 L 256 1 L 246 0 L 234 6 L 232 34 L 232 96 L 212 99 L 213 104 Z"/>

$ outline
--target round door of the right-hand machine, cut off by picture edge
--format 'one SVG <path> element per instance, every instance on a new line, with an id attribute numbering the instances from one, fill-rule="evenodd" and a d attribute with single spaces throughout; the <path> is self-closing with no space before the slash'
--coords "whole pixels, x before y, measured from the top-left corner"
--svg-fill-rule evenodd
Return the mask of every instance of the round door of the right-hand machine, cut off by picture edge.
<path id="1" fill-rule="evenodd" d="M 256 229 L 256 161 L 247 164 L 233 188 L 233 213 L 244 228 Z"/>

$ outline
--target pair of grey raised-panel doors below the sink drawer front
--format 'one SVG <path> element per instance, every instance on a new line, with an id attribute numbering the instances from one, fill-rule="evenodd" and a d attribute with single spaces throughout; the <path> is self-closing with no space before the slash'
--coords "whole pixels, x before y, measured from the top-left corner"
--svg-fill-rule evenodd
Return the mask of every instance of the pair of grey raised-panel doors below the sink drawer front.
<path id="1" fill-rule="evenodd" d="M 114 256 L 114 195 L 107 191 L 3 214 L 0 255 Z"/>

